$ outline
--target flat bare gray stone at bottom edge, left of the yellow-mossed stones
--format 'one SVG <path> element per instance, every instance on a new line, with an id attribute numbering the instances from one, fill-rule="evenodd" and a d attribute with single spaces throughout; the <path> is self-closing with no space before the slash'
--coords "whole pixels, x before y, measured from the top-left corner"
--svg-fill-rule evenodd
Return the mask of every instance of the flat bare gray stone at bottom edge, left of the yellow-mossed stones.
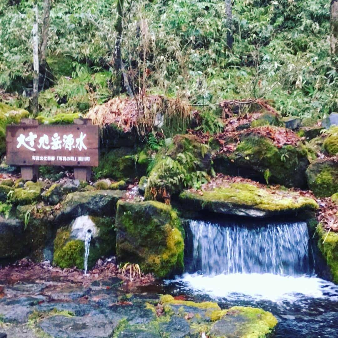
<path id="1" fill-rule="evenodd" d="M 94 317 L 51 316 L 43 319 L 39 327 L 53 337 L 64 338 L 108 338 L 117 325 L 103 315 Z"/>

